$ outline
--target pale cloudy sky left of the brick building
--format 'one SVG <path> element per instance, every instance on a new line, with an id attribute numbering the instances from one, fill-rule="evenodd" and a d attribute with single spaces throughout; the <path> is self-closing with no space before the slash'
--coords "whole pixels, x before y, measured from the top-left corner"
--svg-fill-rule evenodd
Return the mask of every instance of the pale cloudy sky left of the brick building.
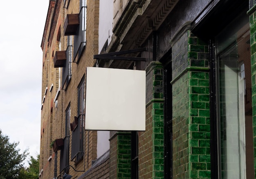
<path id="1" fill-rule="evenodd" d="M 0 129 L 18 148 L 40 152 L 42 49 L 49 0 L 0 6 Z"/>

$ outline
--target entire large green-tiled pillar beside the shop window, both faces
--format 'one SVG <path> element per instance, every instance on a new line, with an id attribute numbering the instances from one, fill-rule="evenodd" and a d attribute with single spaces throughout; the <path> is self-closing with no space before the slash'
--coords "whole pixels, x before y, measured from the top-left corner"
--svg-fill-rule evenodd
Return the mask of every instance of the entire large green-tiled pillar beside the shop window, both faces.
<path id="1" fill-rule="evenodd" d="M 185 35 L 188 42 L 187 68 L 173 76 L 172 82 L 173 179 L 209 179 L 211 157 L 208 45 L 189 31 Z M 176 50 L 183 51 L 183 47 Z M 178 60 L 173 61 L 173 68 L 179 65 L 175 62 Z"/>

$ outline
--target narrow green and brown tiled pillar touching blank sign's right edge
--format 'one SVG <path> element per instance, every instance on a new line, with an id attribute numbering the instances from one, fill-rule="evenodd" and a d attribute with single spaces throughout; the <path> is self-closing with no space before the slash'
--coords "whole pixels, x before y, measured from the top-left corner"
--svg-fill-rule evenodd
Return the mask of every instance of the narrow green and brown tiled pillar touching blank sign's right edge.
<path id="1" fill-rule="evenodd" d="M 146 73 L 146 131 L 139 133 L 139 178 L 164 179 L 164 82 L 162 64 L 156 61 L 151 62 L 146 69 Z"/>

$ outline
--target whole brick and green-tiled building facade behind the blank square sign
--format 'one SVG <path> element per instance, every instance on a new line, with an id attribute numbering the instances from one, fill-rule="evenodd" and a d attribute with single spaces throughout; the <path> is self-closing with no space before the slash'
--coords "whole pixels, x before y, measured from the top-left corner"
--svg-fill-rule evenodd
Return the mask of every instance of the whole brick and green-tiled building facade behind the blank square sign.
<path id="1" fill-rule="evenodd" d="M 254 178 L 255 8 L 253 0 L 50 0 L 39 177 Z M 137 49 L 126 60 L 94 59 Z M 146 71 L 145 131 L 84 129 L 86 67 L 98 65 Z"/>

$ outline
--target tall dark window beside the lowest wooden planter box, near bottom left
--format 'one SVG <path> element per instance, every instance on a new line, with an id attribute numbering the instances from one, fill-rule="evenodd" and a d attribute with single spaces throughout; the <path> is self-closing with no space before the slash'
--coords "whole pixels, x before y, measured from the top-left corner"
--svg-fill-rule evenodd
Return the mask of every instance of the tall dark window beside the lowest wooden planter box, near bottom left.
<path id="1" fill-rule="evenodd" d="M 61 150 L 60 172 L 65 169 L 65 166 L 69 165 L 69 153 L 70 153 L 69 149 L 70 149 L 70 104 L 68 105 L 65 112 L 65 137 L 64 137 L 64 147 Z"/>

